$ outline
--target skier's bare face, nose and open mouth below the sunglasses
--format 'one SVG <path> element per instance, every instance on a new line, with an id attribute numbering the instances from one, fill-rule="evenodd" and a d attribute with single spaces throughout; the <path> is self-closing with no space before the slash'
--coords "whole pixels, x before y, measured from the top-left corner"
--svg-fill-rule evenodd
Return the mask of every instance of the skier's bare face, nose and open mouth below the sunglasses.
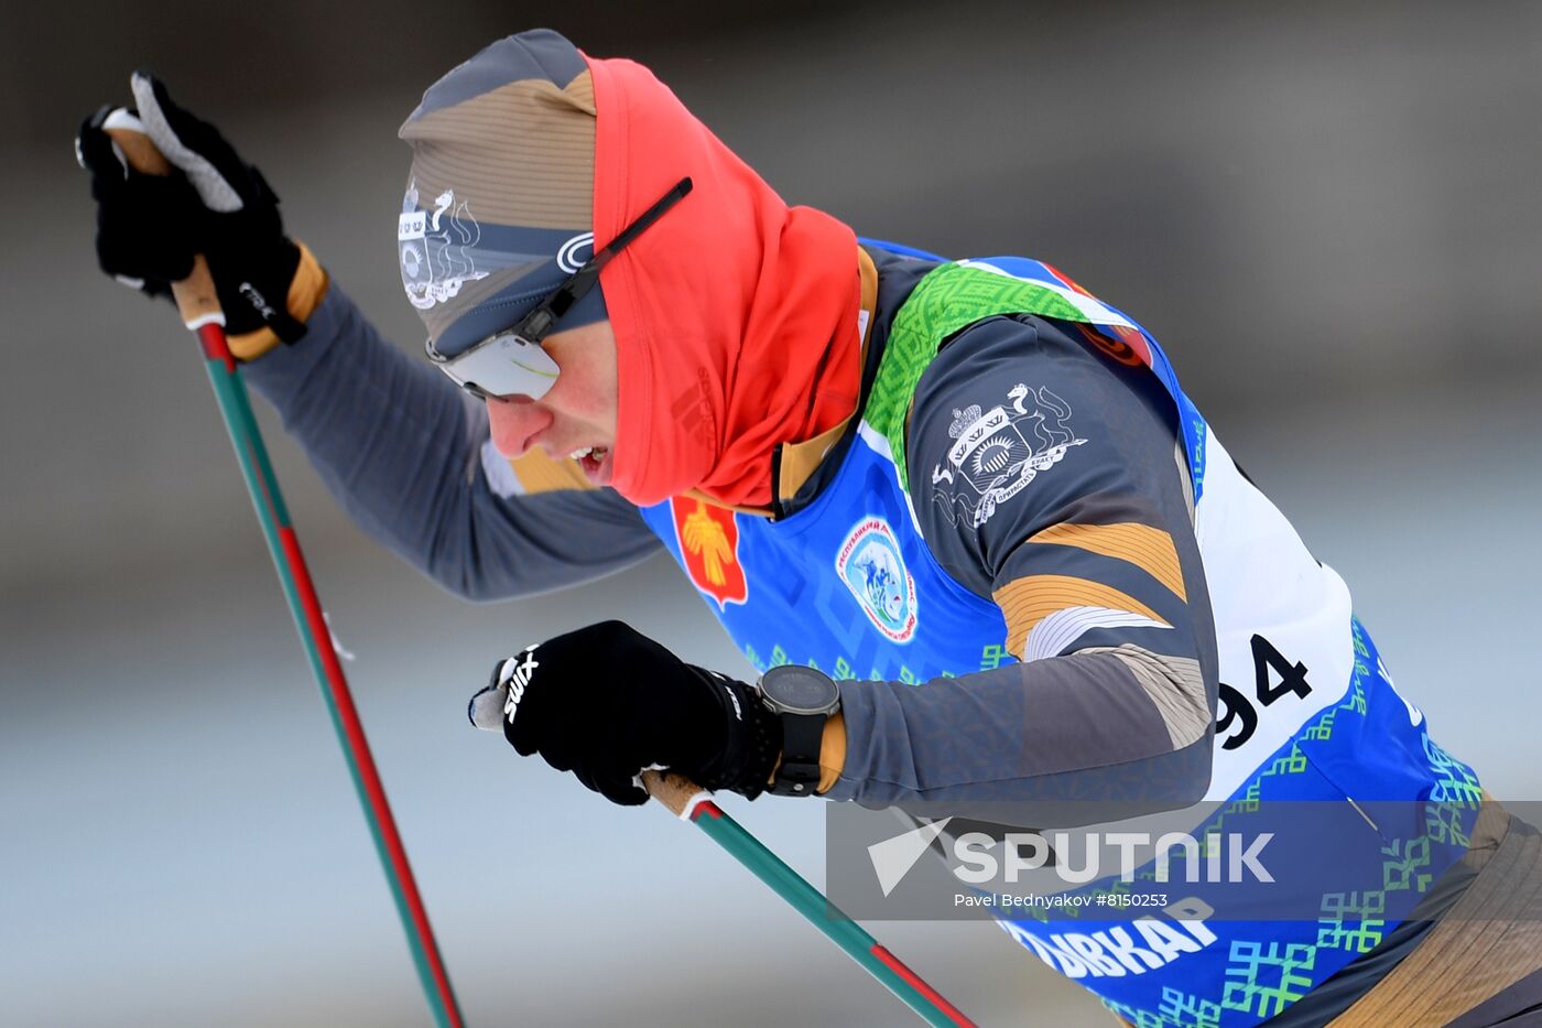
<path id="1" fill-rule="evenodd" d="M 540 400 L 504 397 L 487 403 L 492 443 L 504 457 L 540 448 L 563 460 L 574 454 L 594 485 L 611 480 L 615 449 L 615 333 L 609 321 L 554 332 L 541 347 L 557 361 L 557 383 Z M 586 452 L 588 451 L 588 452 Z"/>

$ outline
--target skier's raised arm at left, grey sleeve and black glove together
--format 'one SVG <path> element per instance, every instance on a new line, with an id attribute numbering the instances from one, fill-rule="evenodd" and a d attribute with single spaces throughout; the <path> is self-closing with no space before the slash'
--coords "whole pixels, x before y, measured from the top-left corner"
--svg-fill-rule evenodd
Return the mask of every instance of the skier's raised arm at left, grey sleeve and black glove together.
<path id="1" fill-rule="evenodd" d="M 219 130 L 150 76 L 131 85 L 142 123 L 177 171 L 133 171 L 108 136 L 113 108 L 82 122 L 76 150 L 97 205 L 102 270 L 170 298 L 193 255 L 205 255 L 231 353 L 367 531 L 472 599 L 592 579 L 658 545 L 614 492 L 534 495 L 581 475 L 571 471 L 564 483 L 552 462 L 543 482 L 510 474 L 483 448 L 486 411 L 376 335 L 284 235 L 278 196 Z"/>

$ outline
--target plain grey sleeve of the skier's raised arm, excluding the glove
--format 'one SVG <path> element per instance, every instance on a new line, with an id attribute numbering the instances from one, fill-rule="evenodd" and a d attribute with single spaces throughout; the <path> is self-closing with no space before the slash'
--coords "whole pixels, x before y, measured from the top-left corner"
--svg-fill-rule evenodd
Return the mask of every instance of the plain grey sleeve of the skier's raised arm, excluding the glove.
<path id="1" fill-rule="evenodd" d="M 452 593 L 493 600 L 555 590 L 658 546 L 611 489 L 535 492 L 492 449 L 486 407 L 386 343 L 336 282 L 302 340 L 244 374 L 342 508 Z"/>

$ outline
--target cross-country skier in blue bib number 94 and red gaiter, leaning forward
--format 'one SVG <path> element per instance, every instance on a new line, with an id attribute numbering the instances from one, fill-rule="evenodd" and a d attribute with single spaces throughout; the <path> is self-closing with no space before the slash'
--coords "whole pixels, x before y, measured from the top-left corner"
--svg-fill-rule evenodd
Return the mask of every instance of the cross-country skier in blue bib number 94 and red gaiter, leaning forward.
<path id="1" fill-rule="evenodd" d="M 648 69 L 534 31 L 401 128 L 409 360 L 253 167 L 136 96 L 182 174 L 86 120 L 103 270 L 159 295 L 208 255 L 248 381 L 369 533 L 480 600 L 663 548 L 766 671 L 580 628 L 473 699 L 520 753 L 620 804 L 649 766 L 867 806 L 1207 796 L 1255 829 L 1311 801 L 1303 917 L 1005 926 L 1143 1028 L 1536 1017 L 1542 838 L 1431 739 L 1156 341 L 1056 269 L 859 242 Z"/>

